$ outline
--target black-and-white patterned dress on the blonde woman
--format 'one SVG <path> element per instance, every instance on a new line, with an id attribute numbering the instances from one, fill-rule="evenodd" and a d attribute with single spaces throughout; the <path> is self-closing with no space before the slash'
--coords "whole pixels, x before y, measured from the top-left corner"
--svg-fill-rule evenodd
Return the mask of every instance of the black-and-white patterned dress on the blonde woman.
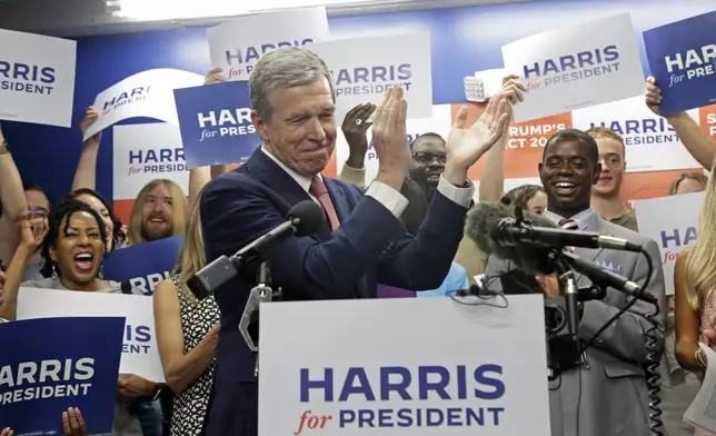
<path id="1" fill-rule="evenodd" d="M 186 355 L 217 324 L 219 320 L 219 306 L 217 306 L 213 296 L 209 296 L 201 301 L 191 299 L 187 296 L 189 293 L 187 285 L 180 284 L 178 276 L 173 276 L 171 280 L 175 283 L 177 295 L 179 296 L 183 353 Z M 211 361 L 211 365 L 201 377 L 175 397 L 171 414 L 171 436 L 198 436 L 201 434 L 209 397 L 211 396 L 215 365 L 216 361 Z"/>

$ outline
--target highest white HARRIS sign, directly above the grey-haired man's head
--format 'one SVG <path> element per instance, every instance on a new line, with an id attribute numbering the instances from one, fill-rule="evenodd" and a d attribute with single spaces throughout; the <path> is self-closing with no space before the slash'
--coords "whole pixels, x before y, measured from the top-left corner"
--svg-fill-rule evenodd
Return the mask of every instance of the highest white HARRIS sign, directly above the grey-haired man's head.
<path id="1" fill-rule="evenodd" d="M 279 47 L 328 39 L 326 8 L 291 9 L 237 17 L 207 30 L 211 65 L 227 80 L 249 80 L 261 56 Z"/>

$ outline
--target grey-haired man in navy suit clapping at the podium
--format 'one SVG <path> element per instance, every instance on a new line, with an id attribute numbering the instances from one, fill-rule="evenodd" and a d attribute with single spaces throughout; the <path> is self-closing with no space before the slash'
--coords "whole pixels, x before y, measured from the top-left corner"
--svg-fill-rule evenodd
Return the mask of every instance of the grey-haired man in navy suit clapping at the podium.
<path id="1" fill-rule="evenodd" d="M 296 47 L 269 51 L 256 63 L 249 89 L 251 119 L 263 146 L 203 191 L 207 261 L 235 254 L 282 224 L 294 205 L 312 199 L 326 212 L 325 230 L 290 238 L 268 259 L 274 287 L 282 288 L 285 299 L 371 298 L 377 283 L 407 289 L 440 286 L 474 192 L 467 169 L 501 136 L 508 119 L 505 98 L 493 98 L 469 128 L 467 108 L 458 115 L 438 192 L 414 238 L 397 218 L 407 206 L 399 190 L 411 159 L 400 88 L 388 91 L 376 110 L 372 135 L 380 168 L 365 195 L 320 176 L 337 126 L 331 75 L 319 57 Z M 257 434 L 256 355 L 238 329 L 256 268 L 241 272 L 216 294 L 221 330 L 208 436 Z"/>

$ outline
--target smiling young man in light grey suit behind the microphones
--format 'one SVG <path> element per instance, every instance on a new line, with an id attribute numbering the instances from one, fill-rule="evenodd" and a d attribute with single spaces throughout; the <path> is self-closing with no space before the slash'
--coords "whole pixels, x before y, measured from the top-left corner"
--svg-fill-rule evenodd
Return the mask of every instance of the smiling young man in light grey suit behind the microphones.
<path id="1" fill-rule="evenodd" d="M 545 218 L 564 229 L 595 231 L 642 245 L 653 260 L 654 270 L 646 291 L 657 298 L 659 315 L 650 317 L 654 306 L 637 301 L 586 350 L 584 363 L 559 376 L 549 392 L 554 436 L 648 436 L 648 397 L 644 367 L 647 365 L 646 331 L 652 327 L 657 340 L 658 361 L 664 344 L 666 297 L 659 249 L 653 239 L 601 219 L 590 206 L 591 187 L 601 172 L 597 143 L 580 130 L 554 135 L 545 147 L 539 177 L 548 204 Z M 643 255 L 610 249 L 575 248 L 575 254 L 644 285 L 648 266 Z M 486 276 L 500 276 L 515 269 L 506 259 L 490 256 Z M 557 280 L 538 277 L 547 296 L 559 294 Z M 499 291 L 500 280 L 489 280 Z M 577 276 L 577 285 L 588 285 Z M 607 288 L 603 300 L 579 305 L 579 336 L 589 340 L 632 298 Z"/>

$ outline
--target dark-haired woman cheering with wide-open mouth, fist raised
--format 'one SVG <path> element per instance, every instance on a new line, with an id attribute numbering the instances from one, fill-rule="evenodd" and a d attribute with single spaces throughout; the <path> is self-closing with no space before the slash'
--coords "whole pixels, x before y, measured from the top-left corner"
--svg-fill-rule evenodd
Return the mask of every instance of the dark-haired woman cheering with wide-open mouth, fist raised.
<path id="1" fill-rule="evenodd" d="M 6 271 L 4 301 L 0 305 L 0 318 L 16 319 L 18 291 L 21 286 L 121 294 L 120 283 L 102 279 L 107 241 L 107 227 L 102 217 L 89 205 L 71 197 L 58 201 L 48 219 L 23 222 L 20 245 Z M 46 278 L 21 283 L 32 254 L 40 246 L 44 257 L 42 272 Z M 141 290 L 132 288 L 132 294 L 141 295 Z M 136 375 L 120 374 L 117 390 L 111 434 L 141 435 L 141 424 L 133 412 L 133 404 L 141 398 L 153 398 L 158 386 Z M 88 427 L 91 434 L 91 422 L 88 423 Z"/>

